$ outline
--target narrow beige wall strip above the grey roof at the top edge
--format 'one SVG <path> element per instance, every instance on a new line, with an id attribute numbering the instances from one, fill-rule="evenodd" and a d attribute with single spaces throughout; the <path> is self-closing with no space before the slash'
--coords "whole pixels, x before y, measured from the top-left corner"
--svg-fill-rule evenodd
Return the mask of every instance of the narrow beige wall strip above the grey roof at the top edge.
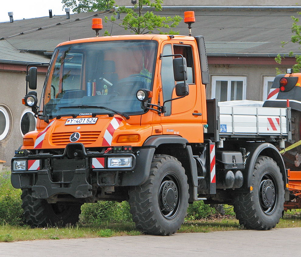
<path id="1" fill-rule="evenodd" d="M 116 5 L 132 5 L 131 0 L 116 0 Z M 174 5 L 182 5 L 182 6 L 296 6 L 296 3 L 300 5 L 300 2 L 296 0 L 240 0 L 240 1 L 233 1 L 233 0 L 202 0 L 202 1 L 180 1 L 180 0 L 164 0 L 162 6 L 174 6 Z"/>

